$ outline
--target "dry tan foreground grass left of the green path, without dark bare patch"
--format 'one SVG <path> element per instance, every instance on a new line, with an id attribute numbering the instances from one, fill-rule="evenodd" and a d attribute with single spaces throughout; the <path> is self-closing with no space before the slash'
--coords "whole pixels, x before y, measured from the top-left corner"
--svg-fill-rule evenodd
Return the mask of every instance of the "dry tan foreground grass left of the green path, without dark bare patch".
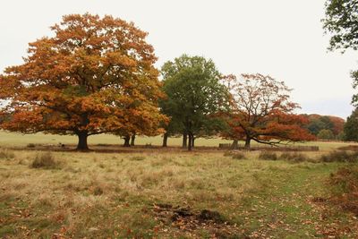
<path id="1" fill-rule="evenodd" d="M 53 152 L 55 161 L 65 162 L 61 170 L 42 170 L 30 167 L 41 152 L 10 153 L 13 158 L 0 160 L 0 238 L 200 238 L 218 233 L 205 226 L 173 226 L 152 213 L 154 203 L 214 210 L 238 231 L 252 231 L 241 214 L 250 211 L 260 193 L 319 166 L 258 160 L 258 151 L 245 152 L 247 160 L 220 151 Z M 307 154 L 319 158 L 317 152 Z"/>

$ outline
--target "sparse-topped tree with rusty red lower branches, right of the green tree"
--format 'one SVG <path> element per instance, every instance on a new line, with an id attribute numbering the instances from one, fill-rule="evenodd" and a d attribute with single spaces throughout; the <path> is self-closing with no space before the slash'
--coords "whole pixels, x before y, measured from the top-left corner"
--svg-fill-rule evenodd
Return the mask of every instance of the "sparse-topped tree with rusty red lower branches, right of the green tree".
<path id="1" fill-rule="evenodd" d="M 250 148 L 251 140 L 260 143 L 277 144 L 281 141 L 305 141 L 314 137 L 303 129 L 307 120 L 294 115 L 299 107 L 290 101 L 284 82 L 268 75 L 242 74 L 226 77 L 233 95 L 233 110 L 227 117 L 230 131 L 226 138 L 245 140 Z"/>

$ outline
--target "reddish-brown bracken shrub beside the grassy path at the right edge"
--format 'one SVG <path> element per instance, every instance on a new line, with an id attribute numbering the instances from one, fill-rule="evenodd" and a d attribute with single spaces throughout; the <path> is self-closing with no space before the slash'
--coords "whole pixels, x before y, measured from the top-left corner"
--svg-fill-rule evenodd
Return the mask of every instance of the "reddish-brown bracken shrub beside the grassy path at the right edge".
<path id="1" fill-rule="evenodd" d="M 339 168 L 330 175 L 331 200 L 358 215 L 358 166 Z"/>

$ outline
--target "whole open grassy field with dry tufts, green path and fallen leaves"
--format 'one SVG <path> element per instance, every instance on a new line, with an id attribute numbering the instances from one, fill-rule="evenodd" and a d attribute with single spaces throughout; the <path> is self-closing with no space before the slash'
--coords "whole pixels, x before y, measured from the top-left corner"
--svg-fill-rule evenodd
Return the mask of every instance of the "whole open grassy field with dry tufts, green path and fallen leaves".
<path id="1" fill-rule="evenodd" d="M 234 159 L 219 150 L 47 154 L 25 147 L 52 139 L 75 142 L 2 132 L 0 238 L 358 237 L 356 216 L 326 200 L 329 175 L 346 164 L 318 162 L 343 143 L 320 143 L 300 163 L 260 160 L 259 151 Z M 90 143 L 118 141 L 96 139 Z M 13 145 L 19 149 L 6 149 Z M 34 168 L 41 157 L 55 163 Z"/>

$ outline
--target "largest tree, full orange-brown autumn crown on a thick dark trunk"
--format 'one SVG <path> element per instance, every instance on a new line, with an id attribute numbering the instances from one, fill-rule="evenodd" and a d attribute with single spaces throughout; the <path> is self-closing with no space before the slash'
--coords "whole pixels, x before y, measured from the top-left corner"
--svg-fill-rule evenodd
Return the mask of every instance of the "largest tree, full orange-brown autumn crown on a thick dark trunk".
<path id="1" fill-rule="evenodd" d="M 9 104 L 1 127 L 25 133 L 75 134 L 77 149 L 103 132 L 152 134 L 165 117 L 157 57 L 134 24 L 106 15 L 65 15 L 54 37 L 30 43 L 24 64 L 0 76 Z"/>

